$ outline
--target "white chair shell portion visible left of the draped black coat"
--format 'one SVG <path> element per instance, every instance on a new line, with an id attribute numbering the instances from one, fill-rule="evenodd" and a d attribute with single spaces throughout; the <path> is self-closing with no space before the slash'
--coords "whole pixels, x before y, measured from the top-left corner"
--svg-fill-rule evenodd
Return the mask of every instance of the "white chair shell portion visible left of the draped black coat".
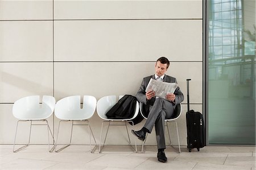
<path id="1" fill-rule="evenodd" d="M 116 96 L 104 96 L 97 102 L 97 114 L 102 119 L 108 119 L 106 113 L 115 105 Z"/>

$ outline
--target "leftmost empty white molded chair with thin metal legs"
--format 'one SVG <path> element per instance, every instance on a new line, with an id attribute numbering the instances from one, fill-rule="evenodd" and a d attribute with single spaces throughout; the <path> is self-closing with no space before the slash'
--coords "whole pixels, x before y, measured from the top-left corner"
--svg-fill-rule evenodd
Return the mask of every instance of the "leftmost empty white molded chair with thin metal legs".
<path id="1" fill-rule="evenodd" d="M 50 149 L 49 152 L 52 152 L 55 145 L 55 140 L 53 138 L 53 134 L 51 131 L 51 128 L 49 127 L 49 123 L 47 121 L 47 118 L 49 118 L 54 110 L 55 107 L 55 98 L 52 96 L 43 96 L 42 98 L 42 105 L 39 103 L 39 96 L 27 96 L 18 99 L 15 101 L 13 105 L 13 115 L 15 118 L 20 119 L 16 124 L 16 132 L 15 132 L 15 138 L 14 138 L 14 144 L 13 144 L 13 152 L 18 152 L 22 150 L 23 148 L 27 147 L 30 144 L 30 136 L 31 136 L 31 127 L 32 125 L 47 125 L 48 128 L 48 148 L 49 148 L 49 131 L 51 132 L 51 136 L 53 139 L 53 147 Z M 22 146 L 15 150 L 15 142 L 16 142 L 16 134 L 18 130 L 18 124 L 19 122 L 26 122 L 30 121 L 30 135 L 28 138 L 28 143 L 25 146 Z M 32 124 L 34 121 L 43 121 L 46 122 L 46 124 Z"/>

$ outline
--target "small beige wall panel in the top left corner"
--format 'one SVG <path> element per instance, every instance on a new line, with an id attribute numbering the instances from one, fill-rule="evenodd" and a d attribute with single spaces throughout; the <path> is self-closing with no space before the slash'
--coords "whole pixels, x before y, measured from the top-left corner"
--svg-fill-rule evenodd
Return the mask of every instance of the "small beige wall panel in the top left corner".
<path id="1" fill-rule="evenodd" d="M 0 20 L 52 19 L 52 3 L 52 0 L 0 0 Z"/>

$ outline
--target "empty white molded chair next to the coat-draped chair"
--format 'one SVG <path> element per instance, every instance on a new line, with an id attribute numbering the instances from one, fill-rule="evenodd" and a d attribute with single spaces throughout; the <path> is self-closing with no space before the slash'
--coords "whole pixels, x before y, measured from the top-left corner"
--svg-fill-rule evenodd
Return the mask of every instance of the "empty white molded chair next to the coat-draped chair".
<path id="1" fill-rule="evenodd" d="M 65 98 L 57 101 L 56 106 L 55 106 L 55 116 L 61 120 L 59 122 L 59 128 L 57 131 L 55 152 L 59 152 L 59 151 L 63 150 L 64 148 L 67 148 L 68 146 L 71 145 L 73 126 L 79 126 L 79 125 L 80 126 L 88 125 L 91 152 L 93 152 L 95 150 L 97 143 L 94 138 L 92 128 L 90 127 L 90 122 L 88 121 L 88 119 L 90 119 L 93 116 L 93 114 L 96 110 L 96 103 L 97 103 L 96 98 L 93 96 L 84 96 L 82 109 L 81 109 L 80 96 L 69 96 L 69 97 L 65 97 Z M 71 137 L 69 140 L 69 144 L 65 144 L 66 146 L 64 146 L 56 151 L 57 140 L 58 140 L 58 136 L 59 136 L 61 122 L 72 122 Z M 87 122 L 87 124 L 86 123 L 85 124 L 80 124 L 80 123 L 74 124 L 74 122 Z M 91 144 L 91 133 L 92 133 L 94 142 L 96 144 L 94 146 L 94 148 L 92 148 L 92 144 Z"/>

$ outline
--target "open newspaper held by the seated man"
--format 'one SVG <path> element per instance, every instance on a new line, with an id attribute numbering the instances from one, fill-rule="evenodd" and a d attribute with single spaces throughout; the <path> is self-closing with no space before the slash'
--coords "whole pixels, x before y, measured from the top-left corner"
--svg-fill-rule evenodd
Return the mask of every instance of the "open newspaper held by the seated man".
<path id="1" fill-rule="evenodd" d="M 176 82 L 162 82 L 155 79 L 150 79 L 146 92 L 153 90 L 156 97 L 166 98 L 166 94 L 174 93 L 177 88 Z"/>

